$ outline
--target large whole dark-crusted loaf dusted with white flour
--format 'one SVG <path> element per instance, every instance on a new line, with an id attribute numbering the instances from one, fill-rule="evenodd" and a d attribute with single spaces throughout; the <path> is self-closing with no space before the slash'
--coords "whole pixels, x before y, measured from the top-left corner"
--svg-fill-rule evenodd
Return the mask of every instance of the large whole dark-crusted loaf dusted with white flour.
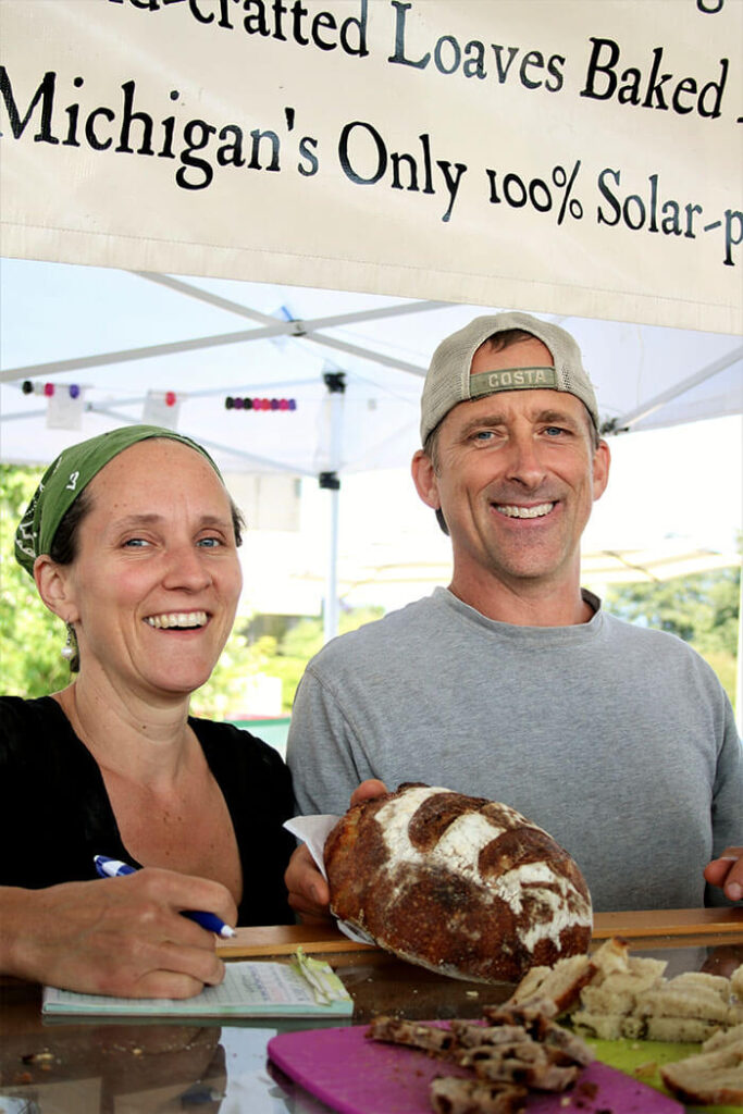
<path id="1" fill-rule="evenodd" d="M 352 807 L 324 856 L 332 912 L 432 970 L 512 983 L 588 950 L 583 874 L 507 804 L 404 784 Z"/>

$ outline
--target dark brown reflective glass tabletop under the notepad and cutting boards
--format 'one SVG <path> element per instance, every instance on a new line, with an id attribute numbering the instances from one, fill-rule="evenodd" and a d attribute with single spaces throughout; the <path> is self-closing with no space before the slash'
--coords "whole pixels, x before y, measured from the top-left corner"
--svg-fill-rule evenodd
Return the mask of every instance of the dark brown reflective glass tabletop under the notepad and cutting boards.
<path id="1" fill-rule="evenodd" d="M 720 934 L 710 926 L 696 935 L 656 934 L 630 939 L 630 945 L 633 951 L 666 959 L 669 977 L 702 968 L 730 974 L 743 962 L 743 909 L 737 913 L 740 931 L 729 925 Z M 502 1001 L 512 991 L 508 984 L 485 986 L 437 975 L 378 949 L 338 947 L 322 955 L 349 988 L 354 1013 L 349 1022 L 334 1018 L 329 1025 L 361 1025 L 378 1014 L 475 1018 L 483 1005 Z M 316 1018 L 48 1020 L 41 1016 L 39 986 L 3 979 L 0 1114 L 327 1114 L 329 1106 L 283 1076 L 266 1056 L 277 1033 L 319 1027 Z"/>

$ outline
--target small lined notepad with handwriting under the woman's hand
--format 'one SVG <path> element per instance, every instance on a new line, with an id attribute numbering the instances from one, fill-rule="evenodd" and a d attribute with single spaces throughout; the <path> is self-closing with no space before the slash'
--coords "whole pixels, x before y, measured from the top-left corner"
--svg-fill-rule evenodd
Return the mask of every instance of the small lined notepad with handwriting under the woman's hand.
<path id="1" fill-rule="evenodd" d="M 107 1017 L 346 1017 L 353 1013 L 353 1000 L 329 964 L 313 959 L 312 980 L 302 968 L 302 964 L 231 962 L 219 986 L 207 986 L 196 997 L 184 999 L 114 998 L 47 986 L 42 1013 Z"/>

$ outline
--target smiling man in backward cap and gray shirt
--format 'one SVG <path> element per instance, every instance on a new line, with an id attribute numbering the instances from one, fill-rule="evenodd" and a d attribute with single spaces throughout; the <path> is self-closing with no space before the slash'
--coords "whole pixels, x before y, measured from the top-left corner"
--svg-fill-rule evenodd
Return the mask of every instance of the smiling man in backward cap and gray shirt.
<path id="1" fill-rule="evenodd" d="M 437 349 L 421 417 L 412 475 L 452 580 L 310 663 L 287 751 L 300 809 L 342 812 L 364 779 L 422 781 L 540 824 L 596 909 L 739 900 L 743 759 L 720 683 L 580 589 L 609 449 L 577 344 L 527 314 L 478 317 Z M 724 893 L 705 890 L 713 858 Z M 295 908 L 311 886 L 322 903 L 319 876 L 293 870 Z"/>

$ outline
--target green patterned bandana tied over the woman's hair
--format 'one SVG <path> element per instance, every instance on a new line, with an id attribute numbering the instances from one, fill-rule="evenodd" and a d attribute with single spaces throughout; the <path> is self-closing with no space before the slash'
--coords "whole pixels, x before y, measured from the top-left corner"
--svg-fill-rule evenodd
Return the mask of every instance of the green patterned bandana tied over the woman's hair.
<path id="1" fill-rule="evenodd" d="M 47 468 L 16 531 L 16 560 L 30 576 L 33 561 L 39 554 L 49 553 L 59 524 L 94 476 L 129 446 L 153 437 L 180 441 L 201 452 L 222 479 L 219 469 L 201 444 L 157 426 L 125 426 L 70 446 Z"/>

